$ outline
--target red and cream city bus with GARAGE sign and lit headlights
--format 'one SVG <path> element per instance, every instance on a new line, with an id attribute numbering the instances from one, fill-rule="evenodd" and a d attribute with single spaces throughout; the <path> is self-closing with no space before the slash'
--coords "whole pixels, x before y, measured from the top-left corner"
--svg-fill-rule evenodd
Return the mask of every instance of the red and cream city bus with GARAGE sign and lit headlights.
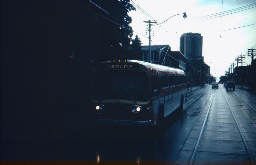
<path id="1" fill-rule="evenodd" d="M 161 126 L 164 117 L 182 111 L 186 90 L 182 69 L 137 60 L 102 62 L 92 77 L 93 118 Z"/>

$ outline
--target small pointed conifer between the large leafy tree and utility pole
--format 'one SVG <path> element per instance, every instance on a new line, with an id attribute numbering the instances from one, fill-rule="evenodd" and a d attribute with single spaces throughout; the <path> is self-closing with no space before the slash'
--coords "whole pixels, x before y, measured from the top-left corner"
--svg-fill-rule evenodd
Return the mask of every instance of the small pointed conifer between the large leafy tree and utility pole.
<path id="1" fill-rule="evenodd" d="M 130 50 L 130 55 L 129 59 L 133 60 L 140 60 L 142 56 L 142 50 L 141 50 L 141 40 L 138 35 L 135 36 L 135 39 L 132 39 L 132 44 L 131 44 L 131 50 Z"/>

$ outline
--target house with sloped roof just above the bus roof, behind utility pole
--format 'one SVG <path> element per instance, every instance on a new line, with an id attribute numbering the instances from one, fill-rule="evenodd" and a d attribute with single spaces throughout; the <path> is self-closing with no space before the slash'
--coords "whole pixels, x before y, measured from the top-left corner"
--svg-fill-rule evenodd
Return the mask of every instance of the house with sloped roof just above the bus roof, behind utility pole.
<path id="1" fill-rule="evenodd" d="M 148 46 L 141 46 L 141 61 L 149 62 Z M 188 58 L 180 51 L 172 51 L 170 45 L 151 45 L 151 61 L 155 64 L 180 68 L 186 71 Z"/>

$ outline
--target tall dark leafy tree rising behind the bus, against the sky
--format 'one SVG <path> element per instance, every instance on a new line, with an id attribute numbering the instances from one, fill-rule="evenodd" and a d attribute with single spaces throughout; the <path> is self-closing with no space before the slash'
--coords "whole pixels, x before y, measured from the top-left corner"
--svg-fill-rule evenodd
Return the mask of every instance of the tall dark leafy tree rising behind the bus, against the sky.
<path id="1" fill-rule="evenodd" d="M 96 1 L 109 14 L 100 17 L 100 61 L 124 59 L 130 46 L 132 18 L 129 11 L 135 10 L 130 0 Z M 107 19 L 106 19 L 107 18 Z M 110 21 L 111 20 L 111 21 Z"/>

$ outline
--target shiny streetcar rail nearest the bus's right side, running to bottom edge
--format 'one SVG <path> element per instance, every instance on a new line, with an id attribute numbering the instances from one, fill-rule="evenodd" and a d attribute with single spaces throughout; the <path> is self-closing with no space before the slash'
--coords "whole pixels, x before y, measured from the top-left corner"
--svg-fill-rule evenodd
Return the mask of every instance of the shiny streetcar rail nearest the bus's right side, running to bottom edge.
<path id="1" fill-rule="evenodd" d="M 215 90 L 216 90 L 216 89 L 215 89 Z M 215 92 L 215 90 L 214 90 L 214 92 Z M 211 94 L 212 94 L 212 92 L 211 92 Z M 195 146 L 195 149 L 194 149 L 193 154 L 192 154 L 192 156 L 191 156 L 191 159 L 190 159 L 190 161 L 189 161 L 189 165 L 192 165 L 192 164 L 194 164 L 194 162 L 195 162 L 196 155 L 197 155 L 197 152 L 198 152 L 198 149 L 199 149 L 199 145 L 200 145 L 201 139 L 202 139 L 202 137 L 203 137 L 204 128 L 205 128 L 205 125 L 206 125 L 206 122 L 207 122 L 207 119 L 208 119 L 208 116 L 209 116 L 209 111 L 210 111 L 211 106 L 212 106 L 213 97 L 214 97 L 214 93 L 213 93 L 213 95 L 212 95 L 212 99 L 211 99 L 210 105 L 209 105 L 209 107 L 208 107 L 208 109 L 207 109 L 207 112 L 206 112 L 206 115 L 205 115 L 205 118 L 204 118 L 204 123 L 203 123 L 203 125 L 202 125 L 201 131 L 200 131 L 199 136 L 198 136 L 198 139 L 197 139 L 197 141 L 196 141 L 196 146 Z"/>

